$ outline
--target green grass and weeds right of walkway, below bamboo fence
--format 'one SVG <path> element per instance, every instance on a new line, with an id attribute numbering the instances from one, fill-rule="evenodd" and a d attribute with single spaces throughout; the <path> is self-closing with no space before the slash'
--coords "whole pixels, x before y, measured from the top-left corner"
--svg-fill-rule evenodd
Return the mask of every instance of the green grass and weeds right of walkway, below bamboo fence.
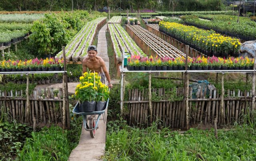
<path id="1" fill-rule="evenodd" d="M 113 128 L 113 130 L 111 130 Z M 190 129 L 184 134 L 157 123 L 146 129 L 110 127 L 106 140 L 106 160 L 256 160 L 256 117 L 234 129 Z"/>

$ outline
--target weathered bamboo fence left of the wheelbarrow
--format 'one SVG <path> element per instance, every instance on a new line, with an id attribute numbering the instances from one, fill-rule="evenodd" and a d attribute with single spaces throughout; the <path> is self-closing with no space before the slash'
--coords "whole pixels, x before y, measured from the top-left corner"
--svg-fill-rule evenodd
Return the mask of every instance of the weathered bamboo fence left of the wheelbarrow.
<path id="1" fill-rule="evenodd" d="M 7 114 L 9 120 L 16 120 L 19 123 L 32 124 L 34 118 L 36 125 L 62 123 L 62 88 L 57 90 L 58 95 L 54 96 L 53 88 L 34 89 L 28 101 L 26 91 L 0 91 L 0 115 Z"/>

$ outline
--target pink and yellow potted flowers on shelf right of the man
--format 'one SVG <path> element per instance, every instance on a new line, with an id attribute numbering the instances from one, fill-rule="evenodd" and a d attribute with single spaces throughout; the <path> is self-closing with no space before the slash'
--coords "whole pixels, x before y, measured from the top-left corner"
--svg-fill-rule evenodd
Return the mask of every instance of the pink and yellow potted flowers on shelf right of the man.
<path id="1" fill-rule="evenodd" d="M 128 58 L 128 70 L 185 70 L 186 58 Z M 253 58 L 220 58 L 194 57 L 188 58 L 188 70 L 252 70 Z"/>

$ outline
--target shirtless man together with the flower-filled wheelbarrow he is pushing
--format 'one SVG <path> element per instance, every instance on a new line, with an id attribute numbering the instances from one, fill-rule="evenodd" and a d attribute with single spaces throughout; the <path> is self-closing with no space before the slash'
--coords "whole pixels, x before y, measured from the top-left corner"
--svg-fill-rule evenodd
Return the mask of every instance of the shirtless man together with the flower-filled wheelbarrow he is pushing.
<path id="1" fill-rule="evenodd" d="M 89 46 L 88 56 L 82 62 L 83 74 L 79 78 L 80 84 L 76 86 L 75 97 L 79 102 L 73 109 L 73 113 L 83 115 L 84 128 L 86 131 L 90 131 L 91 137 L 95 136 L 101 114 L 105 115 L 109 101 L 109 89 L 112 87 L 105 62 L 96 56 L 97 54 L 96 46 Z M 87 68 L 90 72 L 87 72 Z M 106 85 L 106 79 L 108 85 Z M 87 124 L 88 115 L 91 115 L 88 118 L 89 126 Z M 98 115 L 97 120 L 95 115 Z"/>

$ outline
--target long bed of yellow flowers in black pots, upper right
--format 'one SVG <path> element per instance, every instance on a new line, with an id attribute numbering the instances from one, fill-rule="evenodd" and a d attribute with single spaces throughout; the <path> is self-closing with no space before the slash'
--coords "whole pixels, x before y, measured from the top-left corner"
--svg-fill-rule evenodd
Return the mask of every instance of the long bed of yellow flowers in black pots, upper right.
<path id="1" fill-rule="evenodd" d="M 236 38 L 216 34 L 213 30 L 203 30 L 194 26 L 186 26 L 175 22 L 159 22 L 159 30 L 165 34 L 196 48 L 207 56 L 236 54 L 240 49 L 240 42 Z"/>

